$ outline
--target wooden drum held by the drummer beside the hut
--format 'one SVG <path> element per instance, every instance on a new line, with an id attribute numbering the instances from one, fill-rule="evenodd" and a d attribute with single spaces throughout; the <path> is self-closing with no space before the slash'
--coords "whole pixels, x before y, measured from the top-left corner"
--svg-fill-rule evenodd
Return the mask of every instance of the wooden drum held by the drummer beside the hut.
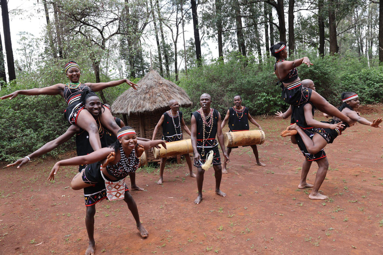
<path id="1" fill-rule="evenodd" d="M 161 144 L 158 145 L 160 148 L 153 147 L 153 154 L 156 159 L 162 157 L 172 157 L 176 155 L 183 155 L 193 152 L 192 140 L 180 140 L 180 141 L 171 141 L 166 143 L 167 149 L 165 149 Z"/>

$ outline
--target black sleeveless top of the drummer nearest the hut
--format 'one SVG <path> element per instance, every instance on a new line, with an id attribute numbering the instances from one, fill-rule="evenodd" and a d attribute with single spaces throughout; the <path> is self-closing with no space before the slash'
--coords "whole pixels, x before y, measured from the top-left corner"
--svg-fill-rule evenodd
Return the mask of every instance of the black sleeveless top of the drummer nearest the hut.
<path id="1" fill-rule="evenodd" d="M 162 139 L 164 141 L 182 140 L 182 116 L 182 112 L 178 112 L 178 116 L 174 118 L 168 112 L 164 113 L 164 122 L 162 123 Z"/>

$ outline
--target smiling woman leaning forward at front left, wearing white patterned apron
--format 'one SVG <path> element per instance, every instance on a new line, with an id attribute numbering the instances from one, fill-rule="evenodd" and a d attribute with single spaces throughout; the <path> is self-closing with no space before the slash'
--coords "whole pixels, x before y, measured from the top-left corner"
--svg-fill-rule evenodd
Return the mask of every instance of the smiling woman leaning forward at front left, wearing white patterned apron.
<path id="1" fill-rule="evenodd" d="M 80 190 L 98 183 L 104 184 L 108 187 L 106 191 L 108 199 L 124 199 L 136 221 L 137 229 L 141 236 L 146 238 L 148 232 L 140 222 L 137 205 L 125 184 L 125 177 L 130 172 L 136 171 L 139 157 L 144 150 L 158 144 L 162 144 L 166 148 L 166 144 L 162 140 L 140 141 L 140 143 L 137 143 L 136 131 L 129 126 L 121 128 L 117 134 L 118 140 L 109 147 L 96 150 L 87 155 L 58 161 L 53 166 L 48 180 L 54 180 L 60 166 L 86 164 L 86 168 L 77 173 L 72 179 L 71 188 Z M 121 187 L 123 188 L 121 189 Z"/>

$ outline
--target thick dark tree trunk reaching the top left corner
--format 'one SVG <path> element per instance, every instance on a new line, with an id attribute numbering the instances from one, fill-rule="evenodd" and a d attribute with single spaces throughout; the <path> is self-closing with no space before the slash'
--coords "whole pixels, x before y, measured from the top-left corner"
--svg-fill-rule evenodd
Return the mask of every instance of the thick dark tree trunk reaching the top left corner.
<path id="1" fill-rule="evenodd" d="M 9 77 L 9 81 L 13 81 L 16 79 L 16 73 L 14 71 L 12 41 L 10 40 L 8 3 L 6 0 L 0 0 L 0 4 L 1 4 L 2 26 L 4 30 L 6 64 L 8 66 L 8 77 Z"/>

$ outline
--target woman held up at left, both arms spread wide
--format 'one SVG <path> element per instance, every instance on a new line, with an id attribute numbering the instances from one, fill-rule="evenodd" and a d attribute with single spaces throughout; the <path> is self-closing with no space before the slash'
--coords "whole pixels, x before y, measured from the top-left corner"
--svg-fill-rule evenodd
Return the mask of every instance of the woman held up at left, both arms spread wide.
<path id="1" fill-rule="evenodd" d="M 84 91 L 100 91 L 105 88 L 114 87 L 124 82 L 129 84 L 133 89 L 136 89 L 136 84 L 133 82 L 123 79 L 119 81 L 101 82 L 101 83 L 81 83 L 80 82 L 80 67 L 76 62 L 70 61 L 65 65 L 65 74 L 69 78 L 69 83 L 62 84 L 58 83 L 45 88 L 35 88 L 29 90 L 17 90 L 9 95 L 3 96 L 0 99 L 13 99 L 17 95 L 60 95 L 62 96 L 68 107 L 65 110 L 65 119 L 68 120 L 69 124 L 74 124 L 80 128 L 86 130 L 89 133 L 89 141 L 93 150 L 101 148 L 100 136 L 98 134 L 98 128 L 96 121 L 92 115 L 84 110 L 84 100 L 81 97 Z M 104 107 L 103 107 L 104 108 Z M 120 127 L 117 126 L 112 114 L 109 109 L 104 108 L 103 114 L 100 115 L 100 121 L 103 127 L 112 131 L 114 135 L 117 134 Z"/>

